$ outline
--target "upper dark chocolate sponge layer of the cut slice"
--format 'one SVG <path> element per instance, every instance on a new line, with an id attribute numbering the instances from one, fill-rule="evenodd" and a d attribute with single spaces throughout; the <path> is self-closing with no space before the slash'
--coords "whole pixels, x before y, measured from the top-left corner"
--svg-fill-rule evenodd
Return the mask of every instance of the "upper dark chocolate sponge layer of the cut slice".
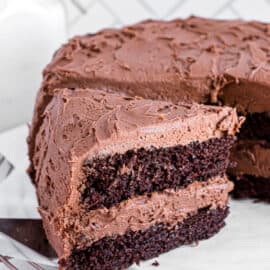
<path id="1" fill-rule="evenodd" d="M 86 160 L 81 200 L 89 210 L 109 208 L 134 195 L 207 181 L 225 173 L 233 141 L 228 136 Z"/>

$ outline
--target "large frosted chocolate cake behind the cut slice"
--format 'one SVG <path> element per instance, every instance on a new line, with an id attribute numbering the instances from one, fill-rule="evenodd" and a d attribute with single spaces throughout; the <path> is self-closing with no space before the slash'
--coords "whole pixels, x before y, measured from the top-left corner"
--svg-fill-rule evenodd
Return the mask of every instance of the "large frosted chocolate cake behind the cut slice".
<path id="1" fill-rule="evenodd" d="M 235 194 L 270 198 L 269 24 L 190 17 L 71 39 L 44 71 L 29 136 L 31 160 L 44 110 L 56 89 L 64 87 L 236 107 L 247 121 L 232 155 L 238 161 L 230 171 Z M 263 153 L 263 163 L 254 151 Z M 34 178 L 33 166 L 29 172 Z"/>

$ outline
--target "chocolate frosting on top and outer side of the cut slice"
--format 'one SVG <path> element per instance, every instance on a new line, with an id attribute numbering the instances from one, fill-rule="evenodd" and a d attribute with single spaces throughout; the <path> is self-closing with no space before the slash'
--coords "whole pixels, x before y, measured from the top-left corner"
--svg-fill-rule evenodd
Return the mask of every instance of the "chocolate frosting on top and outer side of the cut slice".
<path id="1" fill-rule="evenodd" d="M 43 114 L 33 165 L 45 228 L 56 249 L 65 253 L 70 248 L 65 232 L 70 217 L 85 215 L 80 197 L 86 159 L 234 135 L 242 122 L 230 107 L 174 104 L 91 89 L 56 93 Z"/>

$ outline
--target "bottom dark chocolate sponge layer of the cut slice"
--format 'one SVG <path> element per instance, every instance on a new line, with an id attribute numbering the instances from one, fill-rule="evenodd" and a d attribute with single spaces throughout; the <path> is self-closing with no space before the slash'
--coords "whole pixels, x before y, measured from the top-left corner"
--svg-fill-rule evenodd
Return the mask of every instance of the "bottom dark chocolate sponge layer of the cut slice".
<path id="1" fill-rule="evenodd" d="M 205 208 L 174 227 L 159 223 L 145 231 L 128 231 L 124 235 L 105 237 L 89 248 L 74 249 L 71 256 L 60 260 L 60 266 L 72 270 L 125 269 L 180 245 L 211 237 L 224 226 L 227 214 L 228 208 Z"/>

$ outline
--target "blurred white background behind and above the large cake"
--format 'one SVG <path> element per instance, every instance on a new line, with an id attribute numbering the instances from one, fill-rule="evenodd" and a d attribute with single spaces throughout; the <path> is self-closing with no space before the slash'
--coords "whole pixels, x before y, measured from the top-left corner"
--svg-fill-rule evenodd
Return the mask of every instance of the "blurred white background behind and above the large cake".
<path id="1" fill-rule="evenodd" d="M 270 0 L 0 0 L 0 131 L 31 119 L 42 69 L 68 38 L 190 15 L 270 21 Z"/>

